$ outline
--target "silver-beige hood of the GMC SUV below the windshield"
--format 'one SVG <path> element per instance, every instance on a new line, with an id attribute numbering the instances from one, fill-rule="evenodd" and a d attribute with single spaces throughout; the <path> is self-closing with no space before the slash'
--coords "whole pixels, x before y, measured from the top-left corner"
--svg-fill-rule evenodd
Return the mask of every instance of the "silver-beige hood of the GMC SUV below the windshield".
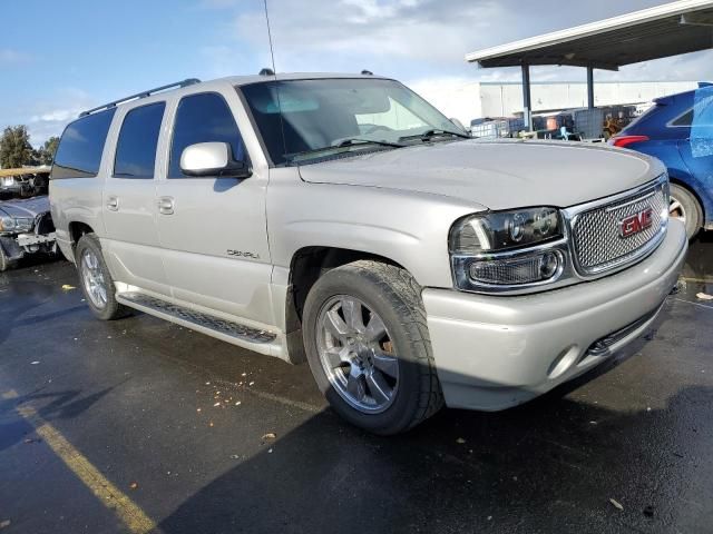
<path id="1" fill-rule="evenodd" d="M 492 210 L 574 206 L 631 189 L 664 170 L 657 160 L 605 146 L 475 139 L 300 167 L 309 182 L 441 195 Z"/>

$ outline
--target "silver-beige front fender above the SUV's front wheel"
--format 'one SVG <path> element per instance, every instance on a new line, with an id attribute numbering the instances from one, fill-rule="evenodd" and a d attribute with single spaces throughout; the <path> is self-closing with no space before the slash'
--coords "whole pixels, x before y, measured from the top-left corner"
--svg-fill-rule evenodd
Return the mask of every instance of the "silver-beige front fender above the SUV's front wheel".
<path id="1" fill-rule="evenodd" d="M 403 266 L 421 286 L 452 287 L 448 233 L 482 206 L 385 188 L 271 181 L 267 226 L 277 267 L 304 247 L 363 251 Z"/>

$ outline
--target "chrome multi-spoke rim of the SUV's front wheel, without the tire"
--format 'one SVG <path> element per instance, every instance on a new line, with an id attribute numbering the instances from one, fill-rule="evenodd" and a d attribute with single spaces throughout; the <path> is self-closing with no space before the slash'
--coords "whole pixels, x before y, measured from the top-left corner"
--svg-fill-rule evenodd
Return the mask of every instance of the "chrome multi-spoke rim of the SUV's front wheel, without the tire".
<path id="1" fill-rule="evenodd" d="M 383 320 L 358 298 L 330 298 L 316 320 L 320 363 L 332 387 L 355 409 L 387 409 L 399 385 L 399 360 Z"/>

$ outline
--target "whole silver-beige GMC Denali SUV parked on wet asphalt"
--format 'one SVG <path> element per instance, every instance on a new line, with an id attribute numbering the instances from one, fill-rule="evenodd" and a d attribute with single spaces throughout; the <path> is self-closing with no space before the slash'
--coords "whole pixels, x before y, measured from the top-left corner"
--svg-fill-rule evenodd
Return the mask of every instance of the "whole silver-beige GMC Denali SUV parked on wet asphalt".
<path id="1" fill-rule="evenodd" d="M 51 178 L 57 241 L 98 318 L 134 308 L 306 359 L 333 408 L 379 434 L 605 362 L 654 322 L 687 247 L 657 160 L 470 139 L 368 75 L 111 102 L 67 127 Z"/>

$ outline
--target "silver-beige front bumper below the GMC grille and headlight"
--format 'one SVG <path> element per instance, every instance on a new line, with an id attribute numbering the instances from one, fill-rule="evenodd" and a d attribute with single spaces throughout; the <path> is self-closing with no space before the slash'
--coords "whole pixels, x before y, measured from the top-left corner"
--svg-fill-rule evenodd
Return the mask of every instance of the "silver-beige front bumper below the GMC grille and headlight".
<path id="1" fill-rule="evenodd" d="M 655 320 L 686 249 L 685 227 L 672 219 L 653 254 L 594 281 L 510 297 L 424 289 L 446 404 L 505 409 L 606 360 Z"/>

